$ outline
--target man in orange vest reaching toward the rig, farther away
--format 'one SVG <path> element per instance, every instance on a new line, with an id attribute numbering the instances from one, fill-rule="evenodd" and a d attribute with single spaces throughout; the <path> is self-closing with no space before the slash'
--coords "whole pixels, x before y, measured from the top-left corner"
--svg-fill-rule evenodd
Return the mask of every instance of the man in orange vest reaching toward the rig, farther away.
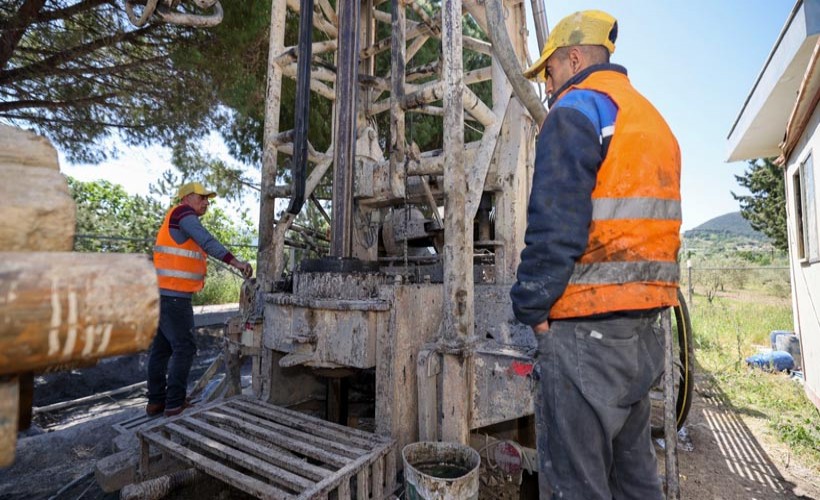
<path id="1" fill-rule="evenodd" d="M 178 415 L 186 399 L 188 374 L 196 354 L 191 297 L 205 286 L 207 256 L 229 264 L 245 278 L 253 275 L 247 262 L 237 259 L 200 223 L 216 193 L 199 182 L 179 187 L 179 204 L 165 214 L 154 245 L 154 267 L 160 294 L 159 328 L 148 357 L 149 416 Z"/>

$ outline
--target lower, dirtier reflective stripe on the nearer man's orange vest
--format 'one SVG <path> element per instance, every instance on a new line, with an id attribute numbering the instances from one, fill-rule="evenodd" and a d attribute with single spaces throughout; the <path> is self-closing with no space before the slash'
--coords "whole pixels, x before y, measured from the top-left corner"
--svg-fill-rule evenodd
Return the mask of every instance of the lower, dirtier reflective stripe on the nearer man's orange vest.
<path id="1" fill-rule="evenodd" d="M 596 262 L 575 264 L 571 285 L 608 285 L 629 282 L 669 283 L 680 278 L 677 262 Z"/>

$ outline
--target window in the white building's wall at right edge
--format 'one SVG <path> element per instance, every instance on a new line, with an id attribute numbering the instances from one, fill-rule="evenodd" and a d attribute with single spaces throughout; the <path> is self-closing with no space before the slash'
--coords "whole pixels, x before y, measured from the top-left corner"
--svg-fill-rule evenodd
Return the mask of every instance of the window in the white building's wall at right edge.
<path id="1" fill-rule="evenodd" d="M 820 261 L 813 164 L 812 157 L 809 155 L 792 175 L 795 243 L 797 257 L 803 262 Z"/>

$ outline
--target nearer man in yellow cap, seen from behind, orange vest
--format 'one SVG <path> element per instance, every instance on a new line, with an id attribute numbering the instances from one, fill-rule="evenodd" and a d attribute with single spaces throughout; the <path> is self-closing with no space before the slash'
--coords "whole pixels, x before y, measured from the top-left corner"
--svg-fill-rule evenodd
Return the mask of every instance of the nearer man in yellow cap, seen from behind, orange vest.
<path id="1" fill-rule="evenodd" d="M 609 62 L 617 36 L 611 15 L 576 12 L 524 73 L 550 95 L 510 291 L 538 342 L 541 498 L 661 498 L 649 390 L 678 303 L 681 157 Z"/>

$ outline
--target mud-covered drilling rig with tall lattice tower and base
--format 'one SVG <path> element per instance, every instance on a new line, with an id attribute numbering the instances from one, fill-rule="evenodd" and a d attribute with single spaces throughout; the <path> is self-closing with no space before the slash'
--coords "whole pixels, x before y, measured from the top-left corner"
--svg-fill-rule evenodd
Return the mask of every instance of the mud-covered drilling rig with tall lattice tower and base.
<path id="1" fill-rule="evenodd" d="M 372 370 L 377 431 L 399 445 L 467 443 L 501 422 L 515 433 L 532 413 L 534 338 L 508 292 L 545 113 L 520 75 L 531 6 L 336 6 L 273 2 L 259 270 L 244 305 L 245 343 L 259 354 L 254 391 L 289 404 L 324 394 L 324 377 Z M 288 47 L 294 14 L 299 42 Z M 543 42 L 543 11 L 534 18 Z M 429 47 L 439 57 L 417 63 Z M 279 126 L 285 79 L 297 89 L 288 130 Z M 317 151 L 309 130 L 327 124 L 308 123 L 308 108 L 323 101 L 332 145 Z M 421 116 L 442 131 L 434 149 L 414 140 Z M 285 170 L 292 182 L 277 184 Z M 323 178 L 332 178 L 330 255 L 285 273 L 285 234 Z M 331 381 L 330 399 L 343 385 Z"/>

